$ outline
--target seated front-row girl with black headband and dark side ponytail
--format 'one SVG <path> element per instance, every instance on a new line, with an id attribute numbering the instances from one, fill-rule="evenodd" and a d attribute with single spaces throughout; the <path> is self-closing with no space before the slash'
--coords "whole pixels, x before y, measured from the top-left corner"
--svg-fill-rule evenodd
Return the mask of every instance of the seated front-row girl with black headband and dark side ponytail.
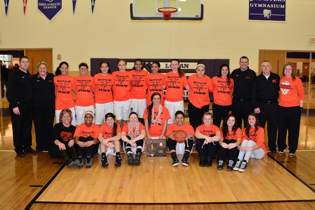
<path id="1" fill-rule="evenodd" d="M 113 113 L 105 114 L 106 123 L 100 126 L 98 139 L 100 147 L 98 153 L 102 156 L 102 167 L 108 166 L 106 156 L 116 155 L 115 166 L 121 166 L 120 143 L 121 128 L 115 123 Z"/>

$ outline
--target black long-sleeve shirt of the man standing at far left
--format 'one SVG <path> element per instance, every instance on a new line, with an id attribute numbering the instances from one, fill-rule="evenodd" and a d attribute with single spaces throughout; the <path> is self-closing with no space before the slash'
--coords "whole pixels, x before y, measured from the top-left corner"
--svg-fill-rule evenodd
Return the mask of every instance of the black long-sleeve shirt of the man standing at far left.
<path id="1" fill-rule="evenodd" d="M 16 102 L 32 101 L 32 75 L 29 71 L 14 70 L 7 85 L 7 99 L 12 108 L 18 107 Z"/>

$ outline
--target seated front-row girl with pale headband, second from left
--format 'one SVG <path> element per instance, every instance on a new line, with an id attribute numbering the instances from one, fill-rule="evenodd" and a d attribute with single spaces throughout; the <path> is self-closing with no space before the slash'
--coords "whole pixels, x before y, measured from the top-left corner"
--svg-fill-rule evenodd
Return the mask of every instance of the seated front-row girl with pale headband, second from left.
<path id="1" fill-rule="evenodd" d="M 80 163 L 78 167 L 83 167 L 83 157 L 85 156 L 85 167 L 92 166 L 92 158 L 98 150 L 98 134 L 100 128 L 92 123 L 93 112 L 87 111 L 84 114 L 84 123 L 80 124 L 74 132 L 74 142 L 77 144 L 77 156 Z"/>

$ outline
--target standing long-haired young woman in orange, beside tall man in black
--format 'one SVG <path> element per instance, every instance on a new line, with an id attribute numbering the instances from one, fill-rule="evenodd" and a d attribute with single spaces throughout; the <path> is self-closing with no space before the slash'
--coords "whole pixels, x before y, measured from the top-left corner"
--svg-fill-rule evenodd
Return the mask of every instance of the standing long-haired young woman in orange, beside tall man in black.
<path id="1" fill-rule="evenodd" d="M 230 78 L 230 68 L 223 64 L 218 76 L 212 78 L 213 89 L 213 124 L 220 128 L 221 120 L 232 111 L 232 92 L 234 82 Z"/>

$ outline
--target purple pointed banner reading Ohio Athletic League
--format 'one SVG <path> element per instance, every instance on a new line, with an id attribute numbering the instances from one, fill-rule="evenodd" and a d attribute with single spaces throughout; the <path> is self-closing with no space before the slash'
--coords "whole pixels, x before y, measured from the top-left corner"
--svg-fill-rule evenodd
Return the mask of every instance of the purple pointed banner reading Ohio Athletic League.
<path id="1" fill-rule="evenodd" d="M 38 0 L 37 8 L 49 20 L 52 20 L 62 9 L 62 0 Z"/>

